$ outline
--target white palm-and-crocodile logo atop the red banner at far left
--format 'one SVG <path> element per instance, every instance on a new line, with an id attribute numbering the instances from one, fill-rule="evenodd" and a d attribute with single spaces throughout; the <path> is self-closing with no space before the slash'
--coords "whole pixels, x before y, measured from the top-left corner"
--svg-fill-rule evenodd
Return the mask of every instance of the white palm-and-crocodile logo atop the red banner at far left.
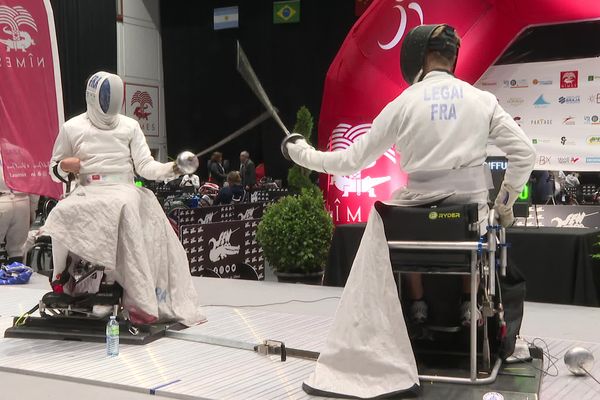
<path id="1" fill-rule="evenodd" d="M 6 51 L 21 50 L 25 52 L 29 47 L 35 45 L 35 41 L 29 32 L 20 28 L 29 26 L 37 32 L 35 20 L 24 7 L 0 6 L 0 24 L 4 25 L 2 32 L 10 35 L 9 39 L 0 39 L 0 43 L 6 46 Z"/>

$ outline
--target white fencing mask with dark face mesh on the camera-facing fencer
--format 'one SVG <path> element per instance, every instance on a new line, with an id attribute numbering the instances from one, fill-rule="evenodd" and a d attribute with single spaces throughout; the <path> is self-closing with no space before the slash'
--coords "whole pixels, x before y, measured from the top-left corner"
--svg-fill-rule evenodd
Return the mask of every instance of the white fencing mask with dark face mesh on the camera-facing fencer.
<path id="1" fill-rule="evenodd" d="M 123 81 L 118 75 L 100 71 L 88 79 L 85 88 L 87 115 L 99 129 L 114 129 L 119 124 L 123 104 Z"/>

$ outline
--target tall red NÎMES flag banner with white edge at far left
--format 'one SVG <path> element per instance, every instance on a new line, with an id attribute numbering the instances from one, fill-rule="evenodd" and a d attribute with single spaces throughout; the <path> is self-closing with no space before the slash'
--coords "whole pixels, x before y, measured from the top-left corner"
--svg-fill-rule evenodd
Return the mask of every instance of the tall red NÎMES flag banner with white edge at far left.
<path id="1" fill-rule="evenodd" d="M 48 165 L 63 122 L 49 0 L 0 0 L 0 151 L 11 189 L 58 197 Z"/>

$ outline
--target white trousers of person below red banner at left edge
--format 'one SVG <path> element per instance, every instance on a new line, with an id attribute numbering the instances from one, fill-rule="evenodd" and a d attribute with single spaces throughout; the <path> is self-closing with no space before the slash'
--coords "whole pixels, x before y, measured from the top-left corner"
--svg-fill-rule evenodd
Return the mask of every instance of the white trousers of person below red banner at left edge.
<path id="1" fill-rule="evenodd" d="M 23 245 L 27 240 L 30 218 L 29 196 L 0 196 L 0 240 L 6 241 L 6 253 L 9 258 L 23 257 Z"/>

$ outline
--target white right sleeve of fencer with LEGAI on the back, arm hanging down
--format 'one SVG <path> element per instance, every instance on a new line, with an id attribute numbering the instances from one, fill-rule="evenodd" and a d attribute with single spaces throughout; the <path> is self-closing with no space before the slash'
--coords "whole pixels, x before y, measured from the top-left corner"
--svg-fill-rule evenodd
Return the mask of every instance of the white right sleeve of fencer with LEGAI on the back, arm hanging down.
<path id="1" fill-rule="evenodd" d="M 490 123 L 490 139 L 508 159 L 503 185 L 520 193 L 533 170 L 535 149 L 521 127 L 497 103 Z"/>

